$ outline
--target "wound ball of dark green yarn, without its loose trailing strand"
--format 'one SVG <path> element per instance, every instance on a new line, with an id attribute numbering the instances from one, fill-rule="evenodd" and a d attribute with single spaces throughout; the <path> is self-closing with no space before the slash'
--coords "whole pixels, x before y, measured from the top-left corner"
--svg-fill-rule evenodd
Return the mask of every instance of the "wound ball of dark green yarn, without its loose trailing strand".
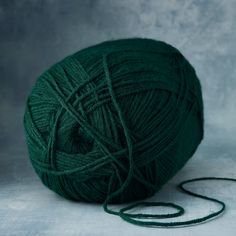
<path id="1" fill-rule="evenodd" d="M 203 139 L 201 86 L 174 47 L 108 41 L 66 57 L 36 81 L 24 115 L 32 165 L 73 200 L 152 196 Z"/>

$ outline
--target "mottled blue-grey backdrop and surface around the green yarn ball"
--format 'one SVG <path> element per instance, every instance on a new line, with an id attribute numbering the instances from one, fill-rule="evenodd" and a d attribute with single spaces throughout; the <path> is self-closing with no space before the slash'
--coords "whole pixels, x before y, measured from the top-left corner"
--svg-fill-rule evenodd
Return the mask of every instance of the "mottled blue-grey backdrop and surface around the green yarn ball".
<path id="1" fill-rule="evenodd" d="M 154 200 L 186 206 L 191 219 L 217 209 L 177 193 L 180 180 L 236 177 L 236 1 L 0 1 L 0 235 L 235 235 L 236 189 L 227 182 L 192 188 L 225 200 L 226 213 L 207 224 L 147 229 L 72 203 L 47 190 L 27 156 L 22 118 L 37 76 L 83 47 L 116 38 L 148 37 L 179 48 L 203 88 L 205 139 L 185 168 Z M 156 210 L 156 209 L 153 209 Z"/>

